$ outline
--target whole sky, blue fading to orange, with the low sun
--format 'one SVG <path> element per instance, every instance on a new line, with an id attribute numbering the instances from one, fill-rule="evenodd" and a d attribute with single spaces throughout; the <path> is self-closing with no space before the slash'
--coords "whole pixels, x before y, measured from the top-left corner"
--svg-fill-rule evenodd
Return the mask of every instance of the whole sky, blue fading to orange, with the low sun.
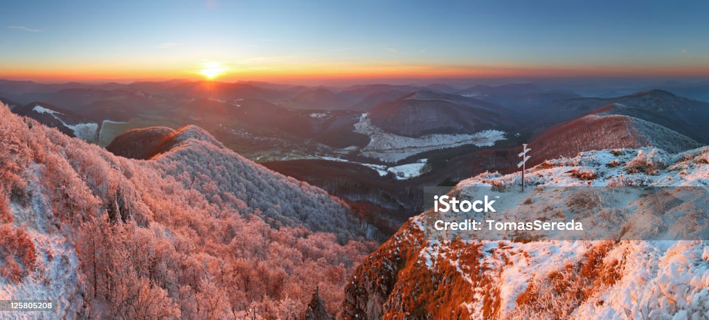
<path id="1" fill-rule="evenodd" d="M 0 77 L 706 77 L 709 1 L 13 1 Z"/>

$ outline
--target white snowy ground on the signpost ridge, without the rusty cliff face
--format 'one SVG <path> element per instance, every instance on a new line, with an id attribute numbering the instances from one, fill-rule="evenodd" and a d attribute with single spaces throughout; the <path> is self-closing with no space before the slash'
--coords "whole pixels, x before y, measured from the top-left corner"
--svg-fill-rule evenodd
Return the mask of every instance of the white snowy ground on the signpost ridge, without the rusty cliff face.
<path id="1" fill-rule="evenodd" d="M 586 177 L 580 178 L 579 172 L 586 172 Z M 519 173 L 485 173 L 460 182 L 456 188 L 460 192 L 476 187 L 517 188 L 520 178 Z M 679 155 L 652 148 L 591 151 L 575 158 L 547 161 L 528 170 L 525 181 L 532 186 L 530 189 L 568 186 L 620 187 L 621 191 L 629 187 L 706 188 L 709 187 L 709 147 Z M 569 200 L 547 196 L 532 196 L 528 206 L 537 208 L 537 214 L 540 214 L 541 207 L 553 206 L 553 202 L 563 205 Z M 635 194 L 627 192 L 625 197 L 635 197 Z M 549 199 L 543 202 L 545 199 L 542 198 Z M 695 231 L 706 228 L 704 221 L 709 206 L 706 199 L 695 200 L 691 203 L 694 206 L 683 203 L 667 209 L 668 215 L 673 214 L 673 210 L 683 212 L 685 219 L 660 215 L 656 218 L 669 220 L 658 224 L 666 226 L 668 233 L 688 226 Z M 642 201 L 632 203 L 627 214 L 647 215 L 647 211 L 642 212 L 642 205 Z M 522 211 L 515 214 L 532 214 L 529 210 Z M 431 214 L 415 217 L 412 225 L 424 231 L 427 216 Z M 695 217 L 686 219 L 692 215 Z M 675 218 L 679 219 L 672 221 Z M 588 219 L 600 224 L 604 217 L 597 214 Z M 632 217 L 627 221 L 636 222 Z M 629 224 L 615 225 L 617 229 L 621 227 L 623 230 L 627 227 L 626 235 L 633 233 L 633 228 L 642 229 L 642 226 Z M 706 319 L 709 315 L 709 247 L 705 241 L 480 240 L 471 241 L 469 245 L 482 245 L 479 260 L 461 260 L 462 249 L 451 248 L 450 241 L 425 241 L 419 259 L 430 270 L 445 265 L 456 267 L 462 279 L 476 291 L 474 299 L 462 302 L 471 312 L 471 319 L 484 318 L 485 306 L 495 303 L 501 306 L 496 314 L 501 319 L 547 319 L 547 316 L 560 316 L 561 319 Z M 602 260 L 594 262 L 598 265 L 588 270 L 589 273 L 570 267 L 588 263 L 593 255 L 603 256 Z M 470 265 L 485 267 L 481 274 L 470 274 L 465 271 L 470 270 Z M 568 290 L 585 292 L 587 297 L 578 299 L 573 295 L 566 296 L 564 292 L 555 292 L 549 285 L 553 275 L 557 275 L 555 283 L 563 280 Z M 481 289 L 480 283 L 476 282 L 481 278 L 493 282 L 493 292 L 498 293 L 490 294 Z M 594 282 L 596 278 L 606 279 L 606 282 Z M 522 294 L 527 296 L 520 298 Z M 534 304 L 520 304 L 520 299 L 532 299 Z"/>

